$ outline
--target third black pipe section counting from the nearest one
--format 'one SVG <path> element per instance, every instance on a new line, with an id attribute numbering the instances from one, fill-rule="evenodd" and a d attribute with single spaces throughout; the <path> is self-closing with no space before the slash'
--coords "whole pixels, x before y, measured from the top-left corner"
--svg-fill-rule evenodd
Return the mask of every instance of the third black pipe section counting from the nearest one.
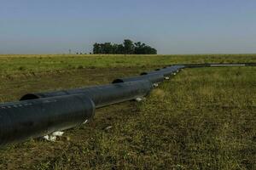
<path id="1" fill-rule="evenodd" d="M 148 80 L 152 83 L 159 83 L 163 82 L 165 77 L 161 74 L 149 74 L 149 75 L 142 75 L 138 77 L 125 77 L 125 78 L 118 78 L 113 80 L 112 83 L 119 83 L 119 82 L 133 82 L 133 81 L 140 81 L 140 80 Z"/>

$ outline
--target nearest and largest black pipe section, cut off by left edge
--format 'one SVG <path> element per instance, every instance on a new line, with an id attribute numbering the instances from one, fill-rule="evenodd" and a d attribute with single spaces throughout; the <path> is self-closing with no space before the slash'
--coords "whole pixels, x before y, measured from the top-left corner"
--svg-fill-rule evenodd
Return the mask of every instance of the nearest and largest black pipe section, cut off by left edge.
<path id="1" fill-rule="evenodd" d="M 0 105 L 0 145 L 77 127 L 94 116 L 84 94 L 32 99 Z"/>

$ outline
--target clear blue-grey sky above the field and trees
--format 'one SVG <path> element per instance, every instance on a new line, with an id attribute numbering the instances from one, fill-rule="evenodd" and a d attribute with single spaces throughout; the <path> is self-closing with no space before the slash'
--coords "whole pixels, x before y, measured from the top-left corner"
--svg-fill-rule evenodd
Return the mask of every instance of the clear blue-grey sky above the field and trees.
<path id="1" fill-rule="evenodd" d="M 256 1 L 0 0 L 0 54 L 89 53 L 125 38 L 159 54 L 256 53 Z"/>

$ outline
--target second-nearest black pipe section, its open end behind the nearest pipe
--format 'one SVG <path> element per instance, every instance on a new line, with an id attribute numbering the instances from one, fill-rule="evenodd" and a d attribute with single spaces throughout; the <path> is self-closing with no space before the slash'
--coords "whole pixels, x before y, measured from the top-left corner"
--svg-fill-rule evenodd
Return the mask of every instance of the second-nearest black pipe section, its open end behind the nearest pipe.
<path id="1" fill-rule="evenodd" d="M 48 93 L 26 94 L 20 100 L 49 98 L 68 94 L 84 94 L 92 99 L 96 108 L 100 108 L 106 105 L 141 98 L 149 94 L 152 88 L 153 84 L 151 82 L 148 80 L 141 80 Z"/>

